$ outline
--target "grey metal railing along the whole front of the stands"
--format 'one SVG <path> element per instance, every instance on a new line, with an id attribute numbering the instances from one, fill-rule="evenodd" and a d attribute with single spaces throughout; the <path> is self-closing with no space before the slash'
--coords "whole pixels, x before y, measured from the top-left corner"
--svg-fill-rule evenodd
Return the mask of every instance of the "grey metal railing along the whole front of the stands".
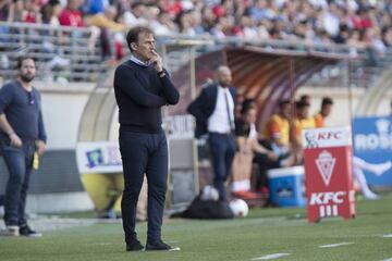
<path id="1" fill-rule="evenodd" d="M 24 52 L 37 59 L 37 77 L 44 80 L 97 82 L 110 69 L 101 58 L 99 40 L 91 28 L 53 27 L 45 24 L 24 24 L 0 22 L 0 75 L 12 78 L 16 71 L 16 57 Z M 112 49 L 114 37 L 112 40 Z M 383 58 L 376 57 L 369 49 L 353 48 L 346 45 L 308 45 L 303 40 L 257 40 L 238 37 L 216 38 L 211 36 L 188 37 L 171 35 L 157 37 L 159 51 L 164 55 L 166 65 L 171 72 L 177 71 L 203 53 L 226 47 L 257 47 L 266 52 L 290 54 L 323 54 L 344 57 L 338 65 L 326 67 L 308 80 L 314 86 L 368 87 L 373 78 L 390 66 L 392 51 Z M 126 42 L 123 50 L 128 53 Z M 114 52 L 114 51 L 112 51 Z M 355 58 L 355 59 L 353 59 Z M 351 62 L 347 62 L 351 60 Z"/>

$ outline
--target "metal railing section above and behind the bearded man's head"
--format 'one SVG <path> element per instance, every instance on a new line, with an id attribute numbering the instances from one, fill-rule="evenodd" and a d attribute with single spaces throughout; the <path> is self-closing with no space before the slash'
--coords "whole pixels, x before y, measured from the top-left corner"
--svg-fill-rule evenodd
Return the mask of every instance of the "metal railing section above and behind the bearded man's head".
<path id="1" fill-rule="evenodd" d="M 15 76 L 16 58 L 28 53 L 37 61 L 37 78 L 91 82 L 106 71 L 99 41 L 89 44 L 90 28 L 0 23 L 0 73 Z"/>

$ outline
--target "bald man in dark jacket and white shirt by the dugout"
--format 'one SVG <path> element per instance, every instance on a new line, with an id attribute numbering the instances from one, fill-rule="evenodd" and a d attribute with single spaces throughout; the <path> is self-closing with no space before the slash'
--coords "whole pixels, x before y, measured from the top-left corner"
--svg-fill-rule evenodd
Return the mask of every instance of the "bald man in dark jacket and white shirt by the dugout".
<path id="1" fill-rule="evenodd" d="M 201 90 L 188 112 L 196 117 L 196 137 L 208 133 L 213 165 L 213 186 L 219 199 L 226 200 L 224 183 L 230 175 L 235 154 L 234 100 L 235 88 L 231 86 L 232 75 L 226 66 L 217 70 L 218 83 Z"/>

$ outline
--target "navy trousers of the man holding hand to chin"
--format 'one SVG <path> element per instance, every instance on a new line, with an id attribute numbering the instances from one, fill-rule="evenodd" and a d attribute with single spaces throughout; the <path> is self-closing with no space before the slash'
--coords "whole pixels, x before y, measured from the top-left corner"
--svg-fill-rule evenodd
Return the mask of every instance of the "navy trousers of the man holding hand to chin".
<path id="1" fill-rule="evenodd" d="M 121 201 L 125 243 L 136 238 L 136 204 L 146 173 L 148 184 L 147 240 L 161 239 L 168 185 L 168 144 L 164 133 L 143 134 L 120 129 L 120 151 L 124 171 Z"/>

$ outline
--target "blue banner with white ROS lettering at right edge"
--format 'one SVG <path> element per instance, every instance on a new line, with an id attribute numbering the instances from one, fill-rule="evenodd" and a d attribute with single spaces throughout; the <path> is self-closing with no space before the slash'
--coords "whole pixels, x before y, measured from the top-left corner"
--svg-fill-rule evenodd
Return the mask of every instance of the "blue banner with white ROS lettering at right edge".
<path id="1" fill-rule="evenodd" d="M 392 116 L 356 117 L 353 122 L 354 167 L 372 187 L 392 187 Z"/>

